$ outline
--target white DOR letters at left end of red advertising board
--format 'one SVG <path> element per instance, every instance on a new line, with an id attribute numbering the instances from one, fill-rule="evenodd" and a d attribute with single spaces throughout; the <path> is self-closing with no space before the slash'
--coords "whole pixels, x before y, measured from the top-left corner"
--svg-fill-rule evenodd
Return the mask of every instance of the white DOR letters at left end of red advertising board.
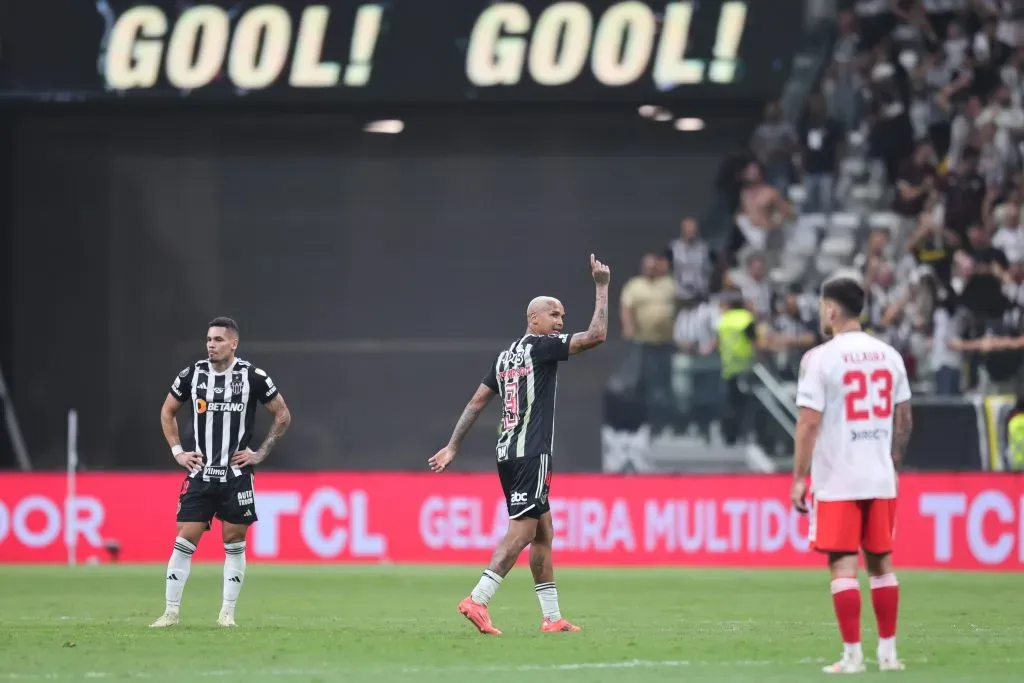
<path id="1" fill-rule="evenodd" d="M 103 504 L 91 496 L 69 501 L 67 510 L 45 496 L 0 500 L 0 547 L 13 538 L 26 548 L 46 548 L 58 541 L 72 545 L 79 539 L 99 548 L 104 516 Z"/>

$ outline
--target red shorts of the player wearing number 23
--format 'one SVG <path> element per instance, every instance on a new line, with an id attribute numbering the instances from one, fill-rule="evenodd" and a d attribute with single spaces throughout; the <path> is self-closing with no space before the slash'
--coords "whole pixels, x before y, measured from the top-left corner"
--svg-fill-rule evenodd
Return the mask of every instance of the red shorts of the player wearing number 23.
<path id="1" fill-rule="evenodd" d="M 885 555 L 893 550 L 896 499 L 813 501 L 808 537 L 822 553 Z"/>

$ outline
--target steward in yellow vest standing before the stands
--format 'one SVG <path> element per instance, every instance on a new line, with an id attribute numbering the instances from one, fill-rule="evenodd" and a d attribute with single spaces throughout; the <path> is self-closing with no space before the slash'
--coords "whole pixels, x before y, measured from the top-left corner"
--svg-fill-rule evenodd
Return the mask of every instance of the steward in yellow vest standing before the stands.
<path id="1" fill-rule="evenodd" d="M 722 315 L 718 321 L 718 349 L 725 381 L 725 416 L 722 436 L 733 445 L 752 409 L 746 376 L 757 359 L 758 321 L 744 305 L 738 290 L 722 294 Z"/>

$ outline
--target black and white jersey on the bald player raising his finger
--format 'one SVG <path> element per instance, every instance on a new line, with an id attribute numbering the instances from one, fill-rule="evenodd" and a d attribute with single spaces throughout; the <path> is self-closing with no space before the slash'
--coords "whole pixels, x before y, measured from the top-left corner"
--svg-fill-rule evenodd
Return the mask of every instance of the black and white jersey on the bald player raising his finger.
<path id="1" fill-rule="evenodd" d="M 483 384 L 502 399 L 498 461 L 550 456 L 555 441 L 558 362 L 570 335 L 526 335 L 498 354 Z"/>

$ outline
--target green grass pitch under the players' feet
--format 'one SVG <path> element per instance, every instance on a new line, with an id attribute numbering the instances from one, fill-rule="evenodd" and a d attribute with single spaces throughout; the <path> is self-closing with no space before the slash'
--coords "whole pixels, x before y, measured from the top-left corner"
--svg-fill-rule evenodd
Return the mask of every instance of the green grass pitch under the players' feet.
<path id="1" fill-rule="evenodd" d="M 169 630 L 164 567 L 0 566 L 3 681 L 779 681 L 821 680 L 841 644 L 824 572 L 562 570 L 579 634 L 541 634 L 529 572 L 492 603 L 505 632 L 457 612 L 479 567 L 250 562 L 237 629 L 215 625 L 219 565 L 194 567 Z M 903 681 L 1024 680 L 1018 574 L 900 573 Z M 866 582 L 865 582 L 866 583 Z M 864 592 L 864 649 L 874 651 Z"/>

